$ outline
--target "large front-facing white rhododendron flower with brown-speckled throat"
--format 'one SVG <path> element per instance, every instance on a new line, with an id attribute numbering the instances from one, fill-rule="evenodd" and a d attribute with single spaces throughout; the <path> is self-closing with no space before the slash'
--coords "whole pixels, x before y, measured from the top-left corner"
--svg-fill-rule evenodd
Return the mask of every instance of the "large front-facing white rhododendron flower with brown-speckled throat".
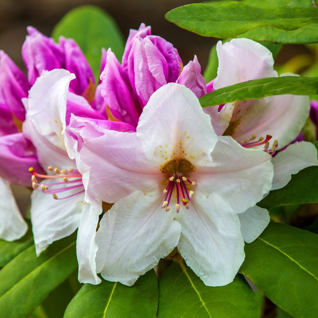
<path id="1" fill-rule="evenodd" d="M 196 95 L 175 83 L 150 97 L 136 133 L 90 138 L 93 129 L 77 130 L 88 138 L 79 150 L 86 190 L 115 202 L 96 234 L 97 272 L 132 285 L 177 246 L 206 285 L 230 283 L 244 260 L 237 213 L 271 188 L 271 156 L 218 137 Z"/>

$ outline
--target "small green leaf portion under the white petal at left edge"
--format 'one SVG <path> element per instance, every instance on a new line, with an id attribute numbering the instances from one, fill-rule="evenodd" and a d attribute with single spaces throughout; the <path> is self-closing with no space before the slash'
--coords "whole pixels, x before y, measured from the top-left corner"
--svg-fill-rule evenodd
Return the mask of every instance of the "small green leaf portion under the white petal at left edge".
<path id="1" fill-rule="evenodd" d="M 29 226 L 28 232 L 26 232 L 22 239 L 13 242 L 0 240 L 0 267 L 9 263 L 11 259 L 14 259 L 19 253 L 33 244 L 31 222 L 27 223 Z"/>

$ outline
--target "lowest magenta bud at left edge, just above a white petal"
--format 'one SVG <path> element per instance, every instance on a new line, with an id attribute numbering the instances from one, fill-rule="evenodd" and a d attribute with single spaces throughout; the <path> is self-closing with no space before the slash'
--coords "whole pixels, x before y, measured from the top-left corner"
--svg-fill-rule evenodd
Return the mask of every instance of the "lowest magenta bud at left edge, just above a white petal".
<path id="1" fill-rule="evenodd" d="M 30 187 L 30 167 L 43 172 L 32 143 L 21 133 L 0 137 L 0 176 L 10 183 Z"/>

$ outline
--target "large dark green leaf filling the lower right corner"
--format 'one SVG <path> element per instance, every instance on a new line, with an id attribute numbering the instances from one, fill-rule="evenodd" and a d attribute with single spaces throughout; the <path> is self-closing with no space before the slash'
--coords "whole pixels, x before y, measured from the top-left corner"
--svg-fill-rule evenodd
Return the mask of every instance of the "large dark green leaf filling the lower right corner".
<path id="1" fill-rule="evenodd" d="M 296 318 L 317 317 L 318 235 L 280 223 L 245 244 L 246 275 L 278 307 Z"/>

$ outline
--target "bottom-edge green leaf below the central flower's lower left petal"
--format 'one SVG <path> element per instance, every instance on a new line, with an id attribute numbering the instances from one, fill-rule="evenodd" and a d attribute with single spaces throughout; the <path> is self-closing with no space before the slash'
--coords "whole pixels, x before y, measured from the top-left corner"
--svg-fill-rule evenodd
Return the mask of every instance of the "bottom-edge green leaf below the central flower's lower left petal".
<path id="1" fill-rule="evenodd" d="M 96 286 L 85 284 L 67 306 L 64 318 L 155 318 L 157 307 L 157 278 L 149 271 L 131 287 L 106 280 Z"/>

